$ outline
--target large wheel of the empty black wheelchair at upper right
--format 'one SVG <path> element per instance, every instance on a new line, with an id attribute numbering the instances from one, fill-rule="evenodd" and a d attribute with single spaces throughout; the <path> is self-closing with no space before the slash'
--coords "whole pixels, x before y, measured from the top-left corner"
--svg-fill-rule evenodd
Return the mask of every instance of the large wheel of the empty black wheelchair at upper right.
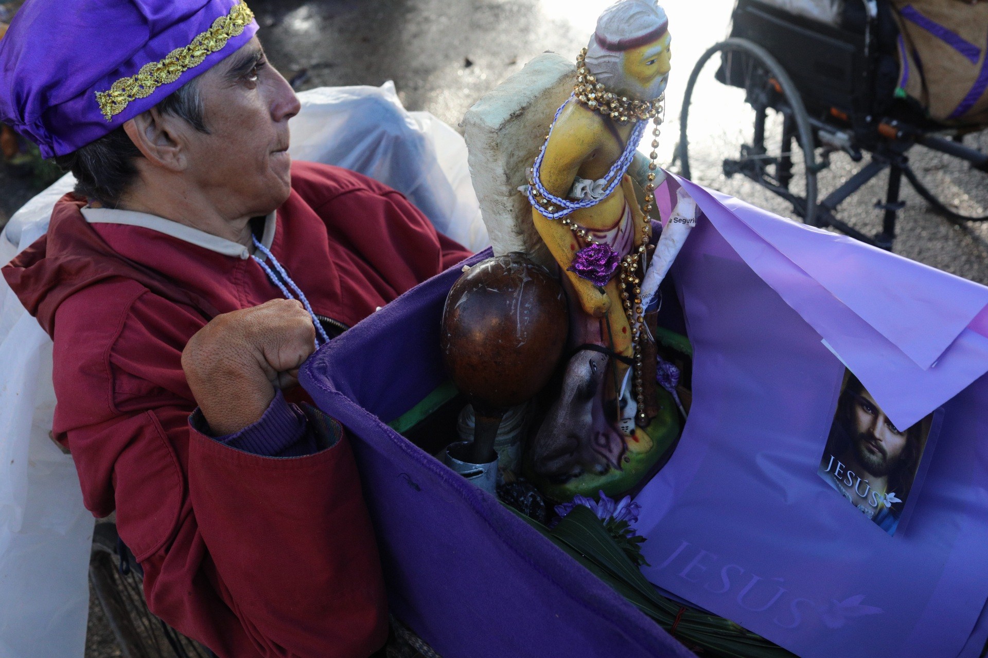
<path id="1" fill-rule="evenodd" d="M 729 38 L 703 53 L 680 114 L 684 177 L 817 226 L 813 149 L 799 93 L 765 48 Z"/>

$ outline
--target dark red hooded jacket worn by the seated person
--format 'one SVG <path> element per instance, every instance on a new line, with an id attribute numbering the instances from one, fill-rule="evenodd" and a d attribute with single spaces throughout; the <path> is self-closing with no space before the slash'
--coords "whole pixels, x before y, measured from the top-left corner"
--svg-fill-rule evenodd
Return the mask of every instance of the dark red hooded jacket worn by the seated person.
<path id="1" fill-rule="evenodd" d="M 272 253 L 316 314 L 352 326 L 469 255 L 403 196 L 295 163 Z M 86 507 L 117 511 L 164 621 L 222 657 L 367 656 L 386 635 L 370 518 L 346 439 L 260 457 L 191 429 L 182 349 L 207 320 L 281 297 L 253 259 L 55 206 L 3 269 L 54 339 L 54 436 Z"/>

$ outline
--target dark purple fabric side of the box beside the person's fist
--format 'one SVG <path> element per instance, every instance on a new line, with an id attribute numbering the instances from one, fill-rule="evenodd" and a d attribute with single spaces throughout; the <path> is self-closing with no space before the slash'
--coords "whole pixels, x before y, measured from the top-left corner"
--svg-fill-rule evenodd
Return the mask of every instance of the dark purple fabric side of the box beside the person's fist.
<path id="1" fill-rule="evenodd" d="M 693 656 L 494 497 L 384 424 L 446 380 L 439 326 L 459 275 L 453 267 L 388 304 L 319 350 L 300 376 L 347 427 L 392 611 L 445 658 Z"/>

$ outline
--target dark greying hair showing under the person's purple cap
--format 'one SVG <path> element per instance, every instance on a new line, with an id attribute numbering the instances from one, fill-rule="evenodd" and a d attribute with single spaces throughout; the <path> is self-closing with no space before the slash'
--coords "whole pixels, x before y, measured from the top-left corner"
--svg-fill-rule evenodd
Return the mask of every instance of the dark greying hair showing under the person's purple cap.
<path id="1" fill-rule="evenodd" d="M 208 134 L 206 107 L 199 89 L 199 78 L 193 78 L 163 99 L 156 108 L 185 120 L 200 132 Z M 56 157 L 55 164 L 75 177 L 75 193 L 91 201 L 114 208 L 137 178 L 133 161 L 143 155 L 118 126 L 112 132 L 72 153 Z"/>

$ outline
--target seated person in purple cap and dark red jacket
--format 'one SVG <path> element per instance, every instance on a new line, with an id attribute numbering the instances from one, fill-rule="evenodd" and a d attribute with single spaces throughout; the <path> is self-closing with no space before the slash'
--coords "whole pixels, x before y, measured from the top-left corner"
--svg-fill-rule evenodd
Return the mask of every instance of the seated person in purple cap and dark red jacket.
<path id="1" fill-rule="evenodd" d="M 216 654 L 367 656 L 380 567 L 315 347 L 468 253 L 399 193 L 288 157 L 299 104 L 240 0 L 28 0 L 0 120 L 75 194 L 3 268 L 54 340 L 53 436 L 148 606 Z"/>

